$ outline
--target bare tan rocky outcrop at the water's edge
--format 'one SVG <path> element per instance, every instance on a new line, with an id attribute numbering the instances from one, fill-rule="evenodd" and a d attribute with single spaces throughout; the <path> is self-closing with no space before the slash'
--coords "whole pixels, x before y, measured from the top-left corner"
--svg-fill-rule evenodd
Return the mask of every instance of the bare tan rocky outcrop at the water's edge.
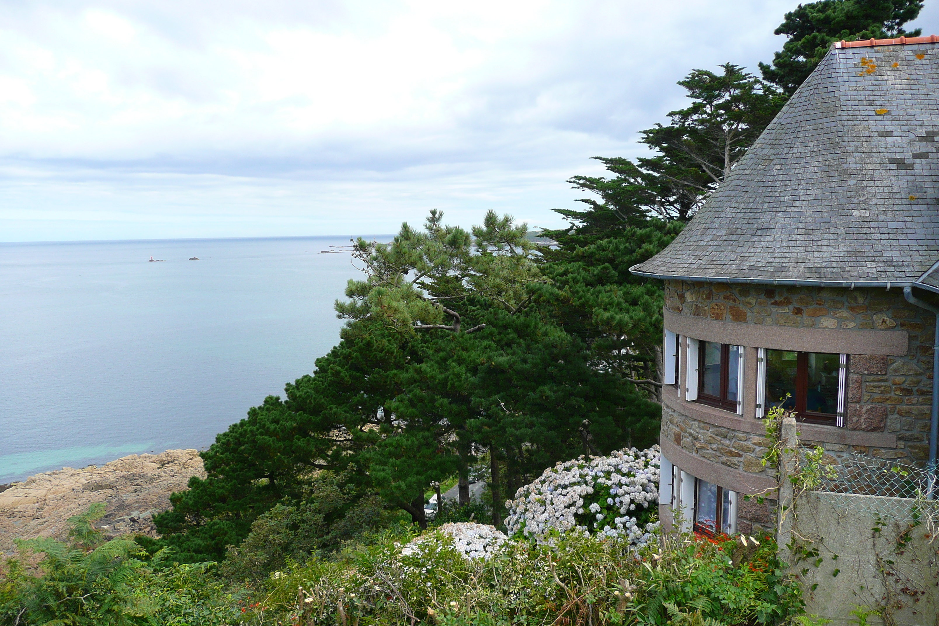
<path id="1" fill-rule="evenodd" d="M 63 540 L 66 520 L 94 502 L 105 504 L 96 524 L 110 537 L 156 537 L 153 516 L 170 508 L 170 494 L 204 478 L 198 450 L 131 454 L 103 466 L 63 467 L 0 488 L 0 555 L 16 551 L 14 539 Z"/>

